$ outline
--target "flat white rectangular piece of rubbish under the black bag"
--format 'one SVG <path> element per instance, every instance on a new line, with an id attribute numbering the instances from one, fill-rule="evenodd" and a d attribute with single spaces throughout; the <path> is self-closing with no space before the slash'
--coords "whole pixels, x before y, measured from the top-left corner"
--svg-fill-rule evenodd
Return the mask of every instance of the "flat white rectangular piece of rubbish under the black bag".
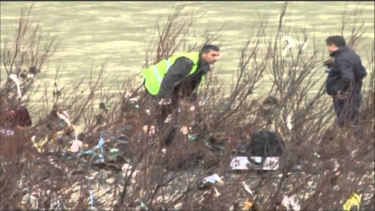
<path id="1" fill-rule="evenodd" d="M 250 158 L 256 162 L 261 162 L 262 157 L 250 156 Z M 252 164 L 245 156 L 237 156 L 232 158 L 230 167 L 232 170 L 276 170 L 279 168 L 279 158 L 266 157 L 262 167 L 261 165 Z"/>

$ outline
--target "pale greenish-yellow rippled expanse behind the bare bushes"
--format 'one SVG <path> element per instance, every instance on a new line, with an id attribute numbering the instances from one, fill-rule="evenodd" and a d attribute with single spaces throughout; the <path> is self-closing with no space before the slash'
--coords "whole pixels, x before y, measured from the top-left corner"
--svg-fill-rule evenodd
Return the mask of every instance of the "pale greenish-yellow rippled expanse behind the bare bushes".
<path id="1" fill-rule="evenodd" d="M 202 31 L 207 26 L 215 33 L 225 23 L 222 36 L 221 58 L 213 74 L 230 83 L 236 72 L 242 43 L 256 31 L 259 21 L 268 22 L 266 36 L 272 37 L 277 29 L 282 2 L 186 2 L 188 8 L 201 15 L 192 26 Z M 1 43 L 13 39 L 21 7 L 31 2 L 1 2 Z M 126 77 L 137 73 L 144 63 L 145 50 L 154 34 L 157 21 L 166 21 L 174 2 L 35 2 L 31 20 L 39 22 L 47 37 L 56 36 L 59 47 L 48 60 L 42 78 L 52 90 L 55 69 L 59 66 L 60 86 L 88 78 L 91 62 L 98 70 L 105 62 L 105 84 L 108 91 Z M 300 35 L 303 29 L 323 46 L 328 35 L 340 32 L 342 14 L 360 9 L 367 31 L 358 53 L 366 63 L 374 38 L 374 2 L 289 2 L 284 26 L 291 26 L 290 35 Z M 349 16 L 349 15 L 348 15 Z M 350 18 L 350 16 L 348 17 Z M 308 41 L 312 42 L 312 39 Z M 311 45 L 310 45 L 311 46 Z M 1 76 L 4 72 L 1 71 Z M 322 73 L 323 69 L 322 69 Z M 234 75 L 235 76 L 235 75 Z M 229 78 L 229 79 L 228 79 Z M 256 94 L 262 94 L 271 85 L 266 75 Z M 139 78 L 136 78 L 138 82 Z M 264 86 L 264 87 L 262 87 Z M 86 91 L 86 90 L 82 90 Z M 87 90 L 88 92 L 88 90 Z"/>

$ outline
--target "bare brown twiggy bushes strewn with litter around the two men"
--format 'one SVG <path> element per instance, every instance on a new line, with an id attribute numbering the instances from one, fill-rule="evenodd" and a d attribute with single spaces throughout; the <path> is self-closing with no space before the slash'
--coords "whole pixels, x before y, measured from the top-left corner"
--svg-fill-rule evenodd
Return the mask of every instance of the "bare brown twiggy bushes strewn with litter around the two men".
<path id="1" fill-rule="evenodd" d="M 358 139 L 350 129 L 336 128 L 332 123 L 333 111 L 321 80 L 325 76 L 321 68 L 323 49 L 315 40 L 311 42 L 304 31 L 300 41 L 312 47 L 308 51 L 290 48 L 283 56 L 282 37 L 289 34 L 282 25 L 286 8 L 284 3 L 274 39 L 266 38 L 266 23 L 261 23 L 257 33 L 244 43 L 230 94 L 224 94 L 210 73 L 199 92 L 199 109 L 188 110 L 181 102 L 181 132 L 166 150 L 152 130 L 154 108 L 147 107 L 141 87 L 134 90 L 126 81 L 120 93 L 102 93 L 103 65 L 96 79 L 91 68 L 88 96 L 76 93 L 83 80 L 66 94 L 58 87 L 57 70 L 53 93 L 45 89 L 39 100 L 39 120 L 26 128 L 13 127 L 12 135 L 1 134 L 0 208 L 240 209 L 239 205 L 250 199 L 252 210 L 278 210 L 286 208 L 281 205 L 284 196 L 296 195 L 301 209 L 342 209 L 349 194 L 358 192 L 363 195 L 361 208 L 373 209 L 374 43 L 364 61 L 369 72 L 360 117 L 365 135 Z M 30 26 L 30 10 L 25 17 L 21 14 L 14 42 L 4 42 L 1 50 L 2 71 L 18 75 L 22 91 L 19 99 L 14 82 L 1 78 L 2 126 L 15 106 L 30 106 L 34 95 L 29 89 L 35 85 L 34 78 L 42 77 L 43 63 L 56 49 L 53 39 L 42 38 L 39 26 Z M 148 51 L 145 65 L 177 51 L 198 50 L 218 38 L 207 29 L 195 43 L 189 42 L 196 17 L 184 11 L 183 6 L 176 8 L 163 28 L 157 25 L 155 55 L 151 59 Z M 360 17 L 354 15 L 352 19 L 350 34 L 346 36 L 344 30 L 348 19 L 344 19 L 341 33 L 354 47 L 361 41 L 364 28 Z M 273 79 L 269 94 L 252 97 L 266 74 Z M 315 86 L 320 88 L 313 92 Z M 52 103 L 48 101 L 50 94 Z M 139 108 L 131 100 L 134 97 Z M 94 102 L 96 98 L 100 104 Z M 61 116 L 68 116 L 68 120 L 61 120 Z M 200 116 L 200 121 L 194 116 Z M 77 124 L 84 125 L 82 131 Z M 258 174 L 230 171 L 233 151 L 240 153 L 251 133 L 260 129 L 282 136 L 285 162 L 279 170 Z M 188 140 L 191 134 L 198 134 L 198 139 Z M 100 137 L 104 140 L 101 145 Z M 67 150 L 71 140 L 82 142 L 81 151 L 96 151 L 77 158 Z M 92 155 L 100 150 L 106 157 L 103 162 Z M 296 161 L 302 170 L 290 173 Z M 334 161 L 337 165 L 331 166 Z M 223 176 L 224 183 L 215 189 L 198 190 L 198 181 L 213 173 Z"/>

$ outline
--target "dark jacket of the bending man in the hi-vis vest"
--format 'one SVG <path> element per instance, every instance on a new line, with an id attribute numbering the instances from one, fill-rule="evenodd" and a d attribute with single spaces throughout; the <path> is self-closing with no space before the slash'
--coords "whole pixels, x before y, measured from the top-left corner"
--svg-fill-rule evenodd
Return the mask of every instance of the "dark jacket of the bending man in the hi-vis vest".
<path id="1" fill-rule="evenodd" d="M 191 59 L 178 57 L 164 74 L 157 97 L 169 98 L 178 93 L 182 97 L 189 97 L 191 101 L 196 100 L 196 90 L 202 76 L 209 71 L 209 64 L 199 58 L 195 72 L 189 75 L 193 65 Z"/>

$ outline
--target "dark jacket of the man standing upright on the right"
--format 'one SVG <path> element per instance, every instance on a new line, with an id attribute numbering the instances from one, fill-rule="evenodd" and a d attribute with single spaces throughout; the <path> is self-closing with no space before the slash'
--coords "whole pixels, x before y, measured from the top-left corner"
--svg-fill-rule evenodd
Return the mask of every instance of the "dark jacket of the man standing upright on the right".
<path id="1" fill-rule="evenodd" d="M 326 79 L 327 94 L 334 96 L 338 91 L 347 91 L 350 95 L 360 93 L 362 79 L 367 73 L 359 55 L 344 46 L 330 56 L 334 57 L 334 62 Z"/>

